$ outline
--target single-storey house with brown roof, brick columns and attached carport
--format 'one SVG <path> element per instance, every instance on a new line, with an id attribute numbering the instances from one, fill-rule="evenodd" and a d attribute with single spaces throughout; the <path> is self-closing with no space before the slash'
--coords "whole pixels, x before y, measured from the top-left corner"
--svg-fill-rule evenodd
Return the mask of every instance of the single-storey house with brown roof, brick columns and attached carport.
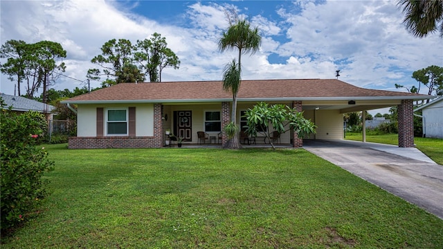
<path id="1" fill-rule="evenodd" d="M 164 131 L 197 144 L 197 132 L 216 137 L 230 121 L 232 94 L 221 81 L 120 83 L 61 103 L 77 105 L 77 137 L 69 148 L 158 148 Z M 412 147 L 413 101 L 428 95 L 364 89 L 336 79 L 242 80 L 237 121 L 255 103 L 282 103 L 304 111 L 316 126 L 305 139 L 343 139 L 343 114 L 393 105 L 399 107 L 399 146 Z M 293 132 L 281 135 L 282 144 L 302 146 Z M 212 139 L 209 139 L 212 140 Z M 221 144 L 228 141 L 222 135 Z M 257 139 L 262 141 L 262 139 Z"/>

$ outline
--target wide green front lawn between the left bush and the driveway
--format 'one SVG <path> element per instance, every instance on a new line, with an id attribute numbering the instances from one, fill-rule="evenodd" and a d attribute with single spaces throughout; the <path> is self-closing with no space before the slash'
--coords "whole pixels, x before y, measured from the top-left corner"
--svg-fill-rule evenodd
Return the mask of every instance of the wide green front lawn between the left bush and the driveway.
<path id="1" fill-rule="evenodd" d="M 442 248 L 443 221 L 305 150 L 46 146 L 39 216 L 1 248 Z"/>

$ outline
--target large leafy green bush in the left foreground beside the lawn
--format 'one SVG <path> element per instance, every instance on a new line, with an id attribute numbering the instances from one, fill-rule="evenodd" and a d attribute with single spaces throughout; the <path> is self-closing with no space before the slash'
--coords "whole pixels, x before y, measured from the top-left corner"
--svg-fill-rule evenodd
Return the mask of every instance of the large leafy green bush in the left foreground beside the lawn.
<path id="1" fill-rule="evenodd" d="M 1 99 L 0 99 L 1 101 Z M 3 101 L 1 101 L 3 102 Z M 37 139 L 46 129 L 46 120 L 38 112 L 15 114 L 0 109 L 1 130 L 1 232 L 6 232 L 32 215 L 46 196 L 46 171 L 53 169 Z"/>

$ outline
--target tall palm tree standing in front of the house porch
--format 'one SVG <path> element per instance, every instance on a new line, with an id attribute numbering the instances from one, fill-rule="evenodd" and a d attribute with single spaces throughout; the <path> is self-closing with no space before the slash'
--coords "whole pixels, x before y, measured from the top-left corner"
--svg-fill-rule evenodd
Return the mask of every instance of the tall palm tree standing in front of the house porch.
<path id="1" fill-rule="evenodd" d="M 228 18 L 229 19 L 229 18 Z M 229 19 L 230 21 L 230 19 Z M 231 112 L 231 123 L 237 123 L 237 94 L 240 88 L 240 80 L 242 73 L 242 54 L 255 53 L 260 48 L 262 37 L 259 35 L 258 28 L 251 28 L 251 24 L 245 19 L 239 19 L 235 15 L 234 22 L 229 22 L 229 27 L 221 34 L 219 39 L 219 50 L 234 50 L 238 49 L 238 63 L 233 60 L 224 69 L 223 88 L 233 94 L 233 107 Z M 231 148 L 239 148 L 237 135 L 233 136 Z"/>

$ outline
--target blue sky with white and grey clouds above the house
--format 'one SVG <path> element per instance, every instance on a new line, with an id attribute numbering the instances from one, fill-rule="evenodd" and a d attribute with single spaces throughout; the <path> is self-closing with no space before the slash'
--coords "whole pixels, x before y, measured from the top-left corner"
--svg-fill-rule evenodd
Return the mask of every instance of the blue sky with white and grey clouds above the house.
<path id="1" fill-rule="evenodd" d="M 91 59 L 111 39 L 136 40 L 160 33 L 181 61 L 162 81 L 221 80 L 235 51 L 220 52 L 234 8 L 260 29 L 260 51 L 242 56 L 242 79 L 336 78 L 370 89 L 410 87 L 413 71 L 443 66 L 443 39 L 404 28 L 397 1 L 0 1 L 0 41 L 50 40 L 67 51 L 66 71 L 52 87 L 85 85 Z M 5 60 L 1 60 L 4 62 Z M 0 91 L 15 93 L 1 75 Z M 91 87 L 100 82 L 91 81 Z M 24 92 L 24 87 L 21 88 Z"/>

